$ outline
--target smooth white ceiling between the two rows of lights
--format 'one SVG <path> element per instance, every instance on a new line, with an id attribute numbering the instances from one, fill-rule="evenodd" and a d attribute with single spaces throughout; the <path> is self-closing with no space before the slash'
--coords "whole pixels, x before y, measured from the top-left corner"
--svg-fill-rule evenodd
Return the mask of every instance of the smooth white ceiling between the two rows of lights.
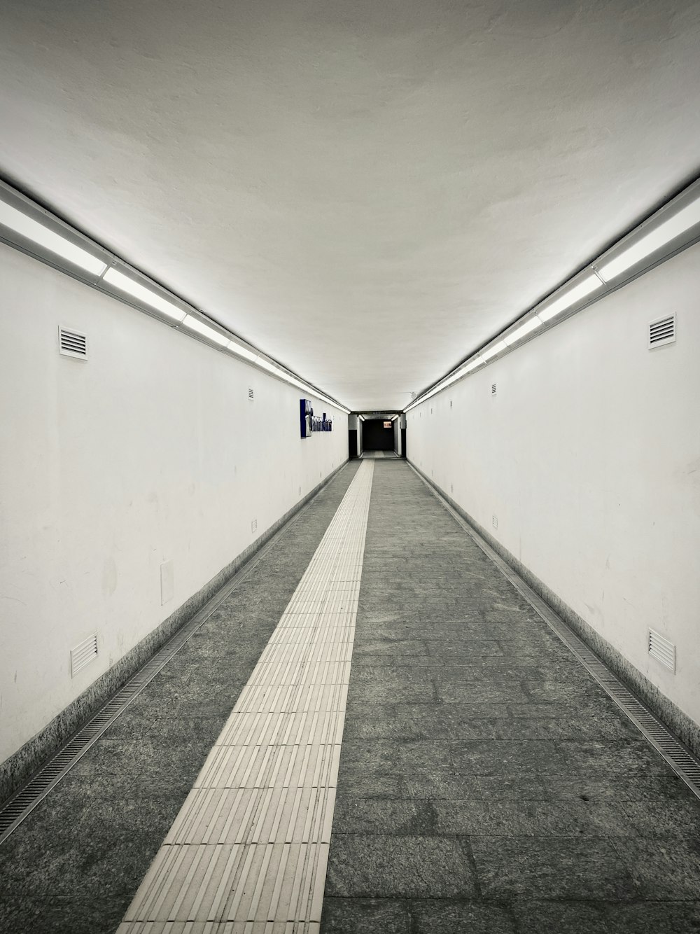
<path id="1" fill-rule="evenodd" d="M 0 173 L 356 409 L 700 171 L 692 0 L 0 0 Z"/>

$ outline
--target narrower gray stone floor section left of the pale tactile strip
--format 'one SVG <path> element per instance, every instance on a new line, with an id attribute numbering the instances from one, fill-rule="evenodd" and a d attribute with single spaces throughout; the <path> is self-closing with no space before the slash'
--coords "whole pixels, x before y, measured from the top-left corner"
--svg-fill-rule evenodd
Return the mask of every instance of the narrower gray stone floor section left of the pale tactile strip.
<path id="1" fill-rule="evenodd" d="M 348 464 L 0 845 L 3 934 L 111 934 L 357 472 Z M 255 559 L 253 559 L 255 561 Z"/>

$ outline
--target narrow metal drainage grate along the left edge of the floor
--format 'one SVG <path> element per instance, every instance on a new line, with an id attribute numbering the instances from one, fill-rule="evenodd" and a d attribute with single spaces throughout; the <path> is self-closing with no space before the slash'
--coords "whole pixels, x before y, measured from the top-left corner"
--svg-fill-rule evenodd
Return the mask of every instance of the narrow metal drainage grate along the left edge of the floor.
<path id="1" fill-rule="evenodd" d="M 340 470 L 343 470 L 345 466 L 343 464 Z M 36 805 L 46 798 L 49 791 L 58 785 L 63 776 L 77 763 L 78 759 L 83 757 L 91 746 L 99 740 L 105 730 L 126 710 L 133 699 L 147 686 L 148 682 L 152 681 L 161 671 L 161 668 L 179 652 L 189 638 L 203 626 L 217 607 L 227 600 L 233 590 L 245 581 L 245 578 L 255 570 L 259 561 L 265 557 L 273 545 L 276 545 L 278 539 L 287 532 L 291 525 L 301 518 L 313 502 L 314 500 L 310 500 L 305 503 L 296 516 L 291 517 L 281 529 L 276 531 L 270 541 L 259 550 L 256 557 L 236 573 L 229 583 L 225 584 L 210 601 L 205 603 L 200 612 L 196 616 L 192 616 L 189 623 L 177 630 L 175 635 L 171 636 L 168 642 L 123 687 L 119 688 L 109 701 L 105 702 L 104 706 L 91 717 L 86 725 L 79 729 L 56 755 L 50 758 L 36 772 L 35 776 L 26 785 L 22 785 L 20 790 L 7 800 L 5 806 L 0 809 L 0 843 L 5 842 L 12 831 L 20 826 L 24 818 L 34 811 Z"/>

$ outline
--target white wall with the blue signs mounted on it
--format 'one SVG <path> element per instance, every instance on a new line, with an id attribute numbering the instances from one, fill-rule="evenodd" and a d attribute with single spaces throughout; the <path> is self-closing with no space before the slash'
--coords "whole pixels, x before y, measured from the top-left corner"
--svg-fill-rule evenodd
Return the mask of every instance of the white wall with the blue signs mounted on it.
<path id="1" fill-rule="evenodd" d="M 298 389 L 2 245 L 0 294 L 2 761 L 343 463 L 347 418 L 302 440 Z"/>

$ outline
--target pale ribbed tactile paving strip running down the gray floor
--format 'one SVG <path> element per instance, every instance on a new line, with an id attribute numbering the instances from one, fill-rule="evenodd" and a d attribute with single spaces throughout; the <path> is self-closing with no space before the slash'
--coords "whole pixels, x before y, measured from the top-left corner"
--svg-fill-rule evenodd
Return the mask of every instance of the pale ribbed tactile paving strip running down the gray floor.
<path id="1" fill-rule="evenodd" d="M 373 464 L 363 463 L 118 934 L 316 934 Z"/>

